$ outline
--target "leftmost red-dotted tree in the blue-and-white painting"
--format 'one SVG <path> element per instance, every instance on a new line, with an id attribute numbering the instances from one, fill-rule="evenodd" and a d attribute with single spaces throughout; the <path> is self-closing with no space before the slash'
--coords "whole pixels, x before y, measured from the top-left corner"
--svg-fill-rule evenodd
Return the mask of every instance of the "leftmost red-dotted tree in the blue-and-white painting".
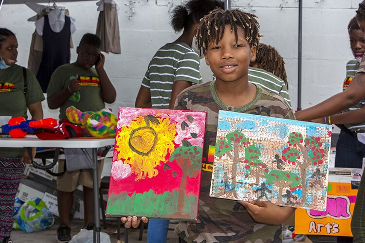
<path id="1" fill-rule="evenodd" d="M 217 197 L 221 196 L 222 194 L 231 193 L 235 198 L 238 199 L 236 192 L 237 164 L 242 162 L 244 158 L 242 156 L 241 148 L 245 148 L 249 144 L 250 141 L 246 139 L 245 135 L 238 130 L 228 133 L 227 136 L 217 141 L 218 151 L 216 151 L 216 156 L 221 158 L 222 156 L 226 155 L 232 161 L 232 169 L 228 171 L 228 173 L 225 173 L 223 178 L 226 185 L 228 184 L 228 182 L 232 183 L 232 189 L 230 189 L 229 191 L 222 191 L 217 193 Z"/>

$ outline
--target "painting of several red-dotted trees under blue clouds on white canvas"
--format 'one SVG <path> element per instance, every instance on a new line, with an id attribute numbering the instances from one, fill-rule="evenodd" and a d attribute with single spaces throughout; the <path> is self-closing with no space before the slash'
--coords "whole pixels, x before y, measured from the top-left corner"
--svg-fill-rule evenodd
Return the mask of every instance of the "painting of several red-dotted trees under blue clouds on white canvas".
<path id="1" fill-rule="evenodd" d="M 322 210 L 331 126 L 219 111 L 210 196 Z"/>

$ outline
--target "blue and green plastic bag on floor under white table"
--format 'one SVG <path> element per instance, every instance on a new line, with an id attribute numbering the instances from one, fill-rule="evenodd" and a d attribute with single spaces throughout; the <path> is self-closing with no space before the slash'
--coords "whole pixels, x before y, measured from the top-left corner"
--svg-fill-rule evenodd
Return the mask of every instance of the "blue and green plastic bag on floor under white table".
<path id="1" fill-rule="evenodd" d="M 17 222 L 19 229 L 31 233 L 52 226 L 55 219 L 46 204 L 37 197 L 34 201 L 28 201 L 21 206 Z"/>

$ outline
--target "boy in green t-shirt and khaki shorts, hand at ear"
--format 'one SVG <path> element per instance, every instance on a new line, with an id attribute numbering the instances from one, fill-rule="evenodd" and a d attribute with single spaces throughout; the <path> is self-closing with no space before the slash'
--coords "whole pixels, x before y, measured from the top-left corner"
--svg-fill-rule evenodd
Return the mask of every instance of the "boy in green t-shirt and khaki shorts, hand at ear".
<path id="1" fill-rule="evenodd" d="M 66 119 L 65 110 L 73 105 L 81 111 L 98 111 L 106 103 L 113 103 L 116 91 L 104 70 L 105 56 L 100 53 L 101 40 L 97 35 L 85 34 L 76 49 L 77 60 L 72 64 L 58 67 L 51 76 L 47 88 L 47 102 L 51 109 L 60 108 L 59 118 Z M 95 68 L 93 66 L 95 65 Z M 63 170 L 63 163 L 59 168 Z M 103 163 L 99 163 L 102 168 Z M 99 170 L 99 186 L 100 175 Z M 60 226 L 57 229 L 58 242 L 71 240 L 70 211 L 73 191 L 83 185 L 85 226 L 92 228 L 93 192 L 92 173 L 90 170 L 66 171 L 57 177 L 57 203 Z"/>

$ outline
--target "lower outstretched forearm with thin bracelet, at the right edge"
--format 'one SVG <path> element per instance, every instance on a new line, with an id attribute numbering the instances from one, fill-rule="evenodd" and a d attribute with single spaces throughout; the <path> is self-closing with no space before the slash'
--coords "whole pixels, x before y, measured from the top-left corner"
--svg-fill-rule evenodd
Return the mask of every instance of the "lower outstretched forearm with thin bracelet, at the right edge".
<path id="1" fill-rule="evenodd" d="M 331 124 L 357 124 L 365 121 L 365 106 L 361 109 L 351 110 L 330 116 Z M 325 123 L 325 118 L 318 118 L 312 122 Z M 327 121 L 329 122 L 329 121 Z"/>

